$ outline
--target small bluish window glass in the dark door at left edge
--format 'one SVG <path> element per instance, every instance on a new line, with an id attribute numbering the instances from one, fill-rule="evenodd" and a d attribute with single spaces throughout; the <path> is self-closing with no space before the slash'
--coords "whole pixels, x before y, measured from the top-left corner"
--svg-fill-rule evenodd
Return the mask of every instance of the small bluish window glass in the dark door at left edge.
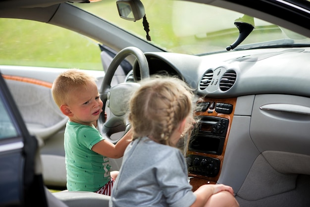
<path id="1" fill-rule="evenodd" d="M 0 99 L 0 139 L 17 137 L 17 131 L 9 117 L 2 99 Z"/>

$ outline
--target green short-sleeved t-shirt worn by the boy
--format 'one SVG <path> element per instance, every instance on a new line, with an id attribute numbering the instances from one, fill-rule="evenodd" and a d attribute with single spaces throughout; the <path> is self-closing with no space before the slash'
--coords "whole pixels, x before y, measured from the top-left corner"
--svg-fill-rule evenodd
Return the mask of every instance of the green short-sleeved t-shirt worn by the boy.
<path id="1" fill-rule="evenodd" d="M 68 121 L 64 131 L 64 150 L 68 191 L 95 192 L 110 181 L 109 158 L 92 151 L 104 140 L 95 128 Z"/>

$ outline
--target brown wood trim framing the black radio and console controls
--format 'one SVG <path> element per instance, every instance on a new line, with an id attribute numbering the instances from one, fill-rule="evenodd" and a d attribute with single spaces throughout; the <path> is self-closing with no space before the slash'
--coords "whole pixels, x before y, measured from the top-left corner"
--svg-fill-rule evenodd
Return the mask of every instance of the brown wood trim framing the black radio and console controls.
<path id="1" fill-rule="evenodd" d="M 190 184 L 193 186 L 193 191 L 197 190 L 197 188 L 199 188 L 201 185 L 204 185 L 204 184 L 215 184 L 219 178 L 219 175 L 221 173 L 224 155 L 225 155 L 226 144 L 227 144 L 227 140 L 229 137 L 231 122 L 232 122 L 235 107 L 236 107 L 237 98 L 212 99 L 212 98 L 205 97 L 205 98 L 202 98 L 201 100 L 199 100 L 198 103 L 199 102 L 209 102 L 209 103 L 214 102 L 214 106 L 216 103 L 231 104 L 233 106 L 233 109 L 232 109 L 232 112 L 230 114 L 217 113 L 215 111 L 215 108 L 213 108 L 213 109 L 208 108 L 207 111 L 199 111 L 199 112 L 195 113 L 196 116 L 214 116 L 214 117 L 226 118 L 229 120 L 229 123 L 228 123 L 225 141 L 224 141 L 223 151 L 222 151 L 221 155 L 213 155 L 213 154 L 207 154 L 207 153 L 201 153 L 201 152 L 194 152 L 194 151 L 190 151 L 190 150 L 187 151 L 188 155 L 200 155 L 200 156 L 206 156 L 206 157 L 211 157 L 211 158 L 217 158 L 220 160 L 220 169 L 219 169 L 218 174 L 215 177 L 208 177 L 208 176 L 192 174 L 192 173 L 188 174 L 189 177 L 193 177 L 190 179 Z"/>

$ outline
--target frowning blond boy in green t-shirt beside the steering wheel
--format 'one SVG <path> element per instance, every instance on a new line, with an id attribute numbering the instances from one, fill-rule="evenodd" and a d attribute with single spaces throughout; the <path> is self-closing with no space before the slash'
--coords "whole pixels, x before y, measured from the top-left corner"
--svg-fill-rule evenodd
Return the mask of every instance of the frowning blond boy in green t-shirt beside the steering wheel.
<path id="1" fill-rule="evenodd" d="M 94 126 L 103 112 L 96 78 L 78 69 L 61 73 L 53 82 L 52 96 L 69 120 L 64 132 L 68 191 L 110 195 L 118 171 L 110 171 L 109 158 L 122 157 L 131 131 L 116 145 Z"/>

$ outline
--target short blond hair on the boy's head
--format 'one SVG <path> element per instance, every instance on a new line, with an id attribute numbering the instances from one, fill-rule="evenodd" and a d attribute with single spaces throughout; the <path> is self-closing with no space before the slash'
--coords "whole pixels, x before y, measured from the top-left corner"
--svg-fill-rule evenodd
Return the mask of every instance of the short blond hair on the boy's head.
<path id="1" fill-rule="evenodd" d="M 78 93 L 81 87 L 87 88 L 88 83 L 95 82 L 96 78 L 79 69 L 69 69 L 62 72 L 52 84 L 52 97 L 55 103 L 60 107 L 62 104 L 68 104 L 70 96 Z"/>

